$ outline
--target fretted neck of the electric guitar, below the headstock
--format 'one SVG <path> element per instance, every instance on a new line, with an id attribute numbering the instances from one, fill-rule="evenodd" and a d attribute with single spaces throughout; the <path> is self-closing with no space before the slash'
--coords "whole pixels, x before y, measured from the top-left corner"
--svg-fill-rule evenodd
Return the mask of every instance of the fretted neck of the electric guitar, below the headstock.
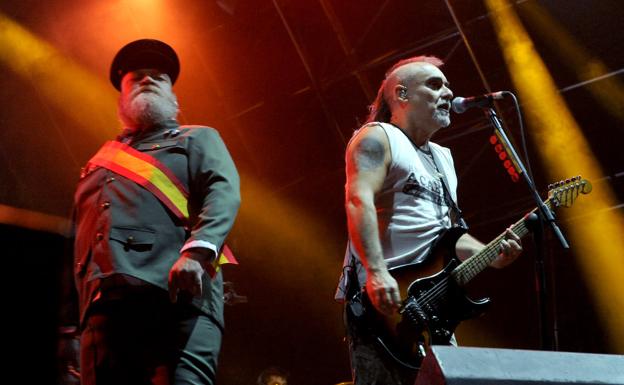
<path id="1" fill-rule="evenodd" d="M 551 199 L 547 199 L 545 202 L 546 207 L 549 209 L 552 208 Z M 529 229 L 527 228 L 527 224 L 525 218 L 534 213 L 537 208 L 533 209 L 529 214 L 522 217 L 518 222 L 516 222 L 511 231 L 519 236 L 520 238 L 524 237 L 529 233 Z M 465 285 L 471 279 L 473 279 L 477 274 L 482 272 L 486 267 L 488 267 L 492 261 L 498 257 L 500 253 L 501 242 L 505 239 L 505 233 L 503 232 L 498 237 L 494 238 L 492 242 L 488 243 L 483 250 L 473 255 L 472 257 L 463 261 L 459 266 L 453 270 L 451 276 L 459 285 Z"/>

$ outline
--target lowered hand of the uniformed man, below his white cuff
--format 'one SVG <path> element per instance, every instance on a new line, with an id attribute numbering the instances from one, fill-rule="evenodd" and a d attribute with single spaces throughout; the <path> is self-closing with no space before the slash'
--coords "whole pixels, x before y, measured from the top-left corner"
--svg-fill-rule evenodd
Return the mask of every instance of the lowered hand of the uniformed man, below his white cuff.
<path id="1" fill-rule="evenodd" d="M 194 297 L 202 295 L 202 263 L 206 257 L 193 249 L 185 250 L 169 271 L 169 298 L 178 300 L 178 292 L 187 291 Z"/>

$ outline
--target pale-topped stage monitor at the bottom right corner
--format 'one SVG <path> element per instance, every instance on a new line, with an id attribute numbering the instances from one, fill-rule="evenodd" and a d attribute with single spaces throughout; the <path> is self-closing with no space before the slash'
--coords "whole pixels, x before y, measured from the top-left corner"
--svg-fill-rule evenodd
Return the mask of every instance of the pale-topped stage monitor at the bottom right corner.
<path id="1" fill-rule="evenodd" d="M 415 385 L 624 384 L 624 356 L 432 346 Z"/>

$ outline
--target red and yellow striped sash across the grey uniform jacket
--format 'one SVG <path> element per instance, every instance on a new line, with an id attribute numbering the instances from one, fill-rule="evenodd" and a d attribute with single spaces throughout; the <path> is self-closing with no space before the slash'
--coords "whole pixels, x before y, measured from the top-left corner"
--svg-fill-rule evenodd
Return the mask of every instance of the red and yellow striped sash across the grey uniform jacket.
<path id="1" fill-rule="evenodd" d="M 125 143 L 108 141 L 89 163 L 104 167 L 143 186 L 183 223 L 188 223 L 188 190 L 158 159 Z M 209 272 L 210 275 L 214 276 L 219 271 L 220 265 L 226 263 L 238 264 L 238 261 L 224 245 L 222 253 L 212 263 L 213 271 Z"/>

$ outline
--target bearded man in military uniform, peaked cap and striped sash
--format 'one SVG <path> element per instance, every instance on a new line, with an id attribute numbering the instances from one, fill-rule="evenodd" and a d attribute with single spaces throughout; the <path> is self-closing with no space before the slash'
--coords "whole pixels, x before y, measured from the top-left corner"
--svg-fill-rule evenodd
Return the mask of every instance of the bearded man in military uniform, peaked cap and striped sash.
<path id="1" fill-rule="evenodd" d="M 219 258 L 240 204 L 217 131 L 180 126 L 179 60 L 137 40 L 110 79 L 123 133 L 84 167 L 74 199 L 83 384 L 214 384 Z"/>

